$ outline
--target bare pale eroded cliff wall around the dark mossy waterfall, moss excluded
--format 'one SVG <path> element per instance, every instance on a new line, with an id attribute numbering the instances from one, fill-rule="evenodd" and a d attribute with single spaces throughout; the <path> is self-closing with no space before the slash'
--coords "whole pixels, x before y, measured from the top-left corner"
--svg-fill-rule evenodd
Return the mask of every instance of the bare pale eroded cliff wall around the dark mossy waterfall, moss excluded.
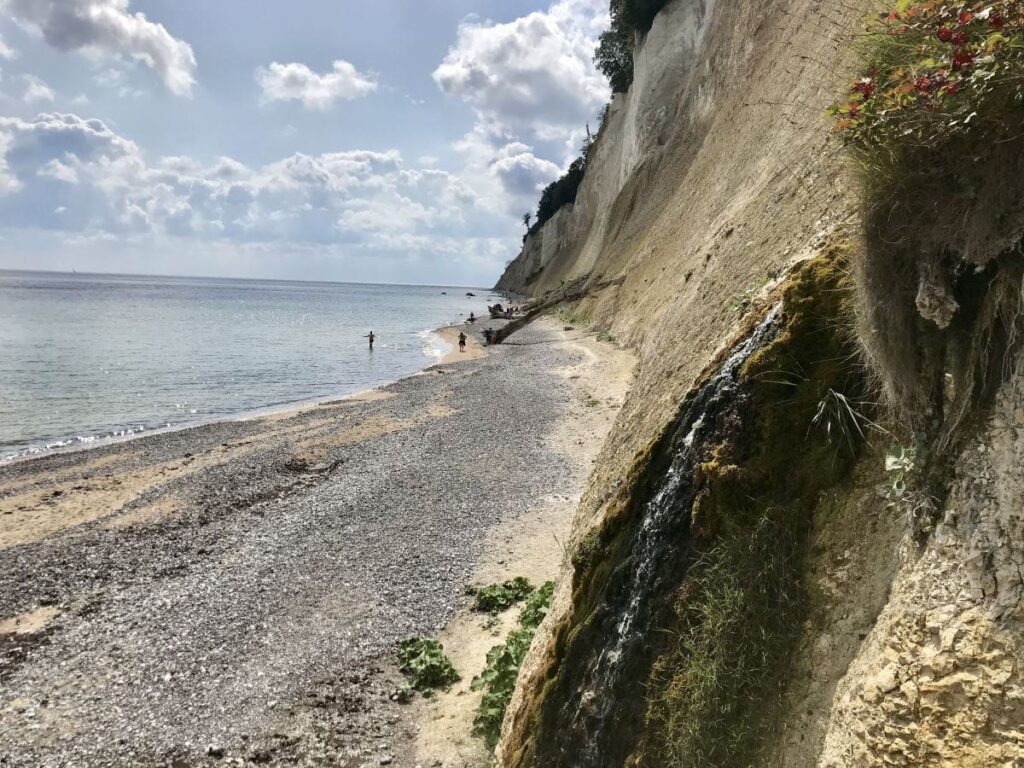
<path id="1" fill-rule="evenodd" d="M 574 315 L 640 359 L 578 512 L 575 571 L 520 675 L 500 764 L 623 764 L 581 762 L 543 743 L 568 711 L 564 695 L 553 703 L 574 664 L 567 655 L 588 652 L 579 639 L 607 603 L 608 572 L 637 566 L 608 562 L 604 572 L 600 561 L 626 557 L 622 531 L 641 514 L 644 473 L 680 408 L 780 301 L 773 286 L 795 262 L 859 247 L 857 198 L 824 113 L 852 77 L 849 43 L 867 10 L 836 0 L 670 0 L 638 41 L 636 79 L 611 104 L 575 204 L 527 239 L 499 283 L 534 296 L 573 280 L 590 285 Z M 849 314 L 829 324 L 854 339 Z M 965 426 L 974 431 L 956 449 L 935 530 L 912 525 L 880 490 L 893 439 L 881 431 L 814 504 L 757 486 L 769 507 L 799 507 L 802 607 L 771 694 L 777 707 L 765 708 L 771 722 L 752 726 L 758 757 L 736 765 L 1024 761 L 1021 381 L 1019 370 L 1007 376 L 996 402 Z M 744 418 L 763 425 L 766 416 L 755 409 Z M 788 457 L 805 460 L 799 450 Z M 611 534 L 609 519 L 620 521 Z M 673 599 L 684 614 L 685 595 Z M 663 654 L 655 672 L 671 677 L 673 663 Z M 668 749 L 655 732 L 664 724 L 650 712 L 644 723 L 629 764 L 712 764 L 670 759 L 658 751 Z"/>

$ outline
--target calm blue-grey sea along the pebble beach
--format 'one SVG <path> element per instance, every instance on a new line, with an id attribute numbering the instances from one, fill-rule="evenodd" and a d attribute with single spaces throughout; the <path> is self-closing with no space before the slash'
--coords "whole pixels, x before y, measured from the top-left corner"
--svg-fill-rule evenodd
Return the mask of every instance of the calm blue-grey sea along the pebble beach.
<path id="1" fill-rule="evenodd" d="M 486 310 L 466 292 L 0 270 L 0 459 L 394 381 Z"/>

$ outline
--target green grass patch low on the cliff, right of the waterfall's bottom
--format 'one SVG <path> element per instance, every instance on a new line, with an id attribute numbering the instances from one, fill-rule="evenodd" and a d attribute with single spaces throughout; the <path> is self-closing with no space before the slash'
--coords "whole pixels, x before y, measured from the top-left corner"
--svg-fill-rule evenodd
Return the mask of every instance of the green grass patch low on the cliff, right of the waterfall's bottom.
<path id="1" fill-rule="evenodd" d="M 656 664 L 650 765 L 753 765 L 781 705 L 800 631 L 800 556 L 791 527 L 762 519 L 692 567 L 681 630 Z"/>

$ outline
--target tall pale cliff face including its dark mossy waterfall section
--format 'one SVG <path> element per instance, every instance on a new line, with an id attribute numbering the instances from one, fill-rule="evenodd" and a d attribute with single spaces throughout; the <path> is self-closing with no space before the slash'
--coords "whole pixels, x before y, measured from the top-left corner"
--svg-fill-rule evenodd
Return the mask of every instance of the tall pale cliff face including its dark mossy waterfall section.
<path id="1" fill-rule="evenodd" d="M 837 253 L 856 259 L 863 247 L 859 203 L 823 115 L 852 77 L 849 42 L 868 9 L 838 0 L 671 0 L 638 41 L 634 84 L 611 104 L 575 204 L 527 239 L 498 284 L 534 296 L 568 281 L 590 285 L 573 313 L 640 358 L 578 512 L 572 578 L 520 675 L 499 746 L 503 765 L 1024 761 L 1022 372 L 1008 362 L 994 399 L 952 441 L 955 475 L 929 513 L 932 528 L 880 492 L 892 482 L 885 452 L 898 439 L 858 421 L 857 403 L 881 397 L 870 377 L 820 367 L 822 357 L 807 351 L 849 343 L 843 355 L 854 359 L 861 346 L 855 307 L 822 308 L 798 289 L 852 290 L 827 275 L 849 268 Z M 814 268 L 826 276 L 811 281 L 794 266 L 802 261 L 823 265 Z M 765 354 L 785 361 L 787 386 L 808 387 L 806 401 L 737 369 L 742 407 L 722 416 L 702 446 L 693 447 L 699 430 L 673 442 L 687 409 L 772 307 L 787 330 L 784 343 L 765 342 Z M 826 322 L 802 324 L 806 312 Z M 844 402 L 856 415 L 822 417 Z M 779 422 L 779 411 L 790 421 Z M 825 443 L 801 441 L 822 420 L 844 434 L 871 434 L 829 458 Z M 791 434 L 801 439 L 786 446 Z M 790 452 L 792 472 L 766 458 L 779 452 Z M 652 488 L 673 471 L 684 475 L 673 492 L 685 499 L 682 516 L 666 526 L 664 547 L 641 546 Z M 804 472 L 794 485 L 791 475 Z M 737 562 L 766 557 L 761 531 L 792 547 L 782 570 L 766 560 L 752 571 L 776 591 L 730 592 L 722 585 L 741 582 Z M 746 554 L 730 559 L 733 550 Z M 679 565 L 657 571 L 648 592 L 668 607 L 643 614 L 637 632 L 647 650 L 629 655 L 626 640 L 602 643 L 623 626 L 616 601 L 639 589 L 622 574 L 643 564 L 640 552 L 657 567 L 670 556 Z M 767 622 L 765 636 L 787 652 L 725 689 L 728 665 L 714 667 L 716 653 L 757 649 L 708 629 L 706 607 L 736 594 L 733 620 Z M 714 599 L 700 603 L 701 595 Z M 759 612 L 758 601 L 769 599 L 792 600 L 790 626 Z M 667 635 L 685 642 L 659 639 Z M 636 688 L 595 682 L 611 679 L 595 672 L 607 668 L 608 653 L 627 653 Z M 730 662 L 746 669 L 742 658 Z M 698 700 L 692 691 L 712 668 L 718 697 Z M 759 706 L 741 703 L 755 694 Z M 690 713 L 689 724 L 665 717 L 671 710 Z M 593 746 L 588 728 L 604 722 L 595 718 L 612 722 L 616 713 L 631 724 L 628 758 L 607 750 L 581 757 L 589 749 L 581 744 Z M 742 749 L 711 762 L 710 753 L 695 754 L 725 738 Z"/>

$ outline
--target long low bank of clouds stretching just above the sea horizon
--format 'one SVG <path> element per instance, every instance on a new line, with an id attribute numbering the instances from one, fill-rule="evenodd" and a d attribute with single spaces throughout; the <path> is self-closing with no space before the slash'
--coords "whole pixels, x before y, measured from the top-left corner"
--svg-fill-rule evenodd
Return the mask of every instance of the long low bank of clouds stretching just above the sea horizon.
<path id="1" fill-rule="evenodd" d="M 462 253 L 487 239 L 487 253 L 499 241 L 508 248 L 485 213 L 465 216 L 472 200 L 456 176 L 407 167 L 393 150 L 296 154 L 260 167 L 150 162 L 98 120 L 0 118 L 0 226 L 11 228 L 341 244 L 367 254 Z"/>

